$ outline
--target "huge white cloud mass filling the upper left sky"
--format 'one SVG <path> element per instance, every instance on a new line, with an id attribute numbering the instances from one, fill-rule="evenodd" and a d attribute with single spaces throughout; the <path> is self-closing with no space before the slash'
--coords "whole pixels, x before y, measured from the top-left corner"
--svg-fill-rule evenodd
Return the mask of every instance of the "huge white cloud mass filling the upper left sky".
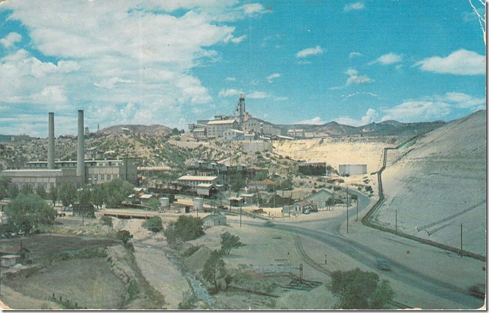
<path id="1" fill-rule="evenodd" d="M 10 19 L 28 29 L 28 49 L 59 61 L 47 62 L 23 49 L 11 51 L 0 59 L 0 102 L 50 99 L 72 110 L 78 103 L 87 121 L 92 114 L 106 126 L 119 122 L 115 117 L 121 106 L 127 106 L 124 122 L 172 126 L 181 112 L 209 104 L 208 86 L 190 74 L 192 69 L 219 61 L 216 45 L 239 44 L 247 38 L 235 35 L 236 21 L 269 12 L 259 3 L 242 6 L 219 0 L 135 0 L 117 6 L 111 1 L 74 1 L 67 6 L 53 0 L 49 6 L 36 6 L 35 13 L 25 1 L 2 5 L 12 10 Z M 18 40 L 8 35 L 1 45 Z M 57 129 L 63 134 L 63 127 L 71 126 L 58 123 Z"/>

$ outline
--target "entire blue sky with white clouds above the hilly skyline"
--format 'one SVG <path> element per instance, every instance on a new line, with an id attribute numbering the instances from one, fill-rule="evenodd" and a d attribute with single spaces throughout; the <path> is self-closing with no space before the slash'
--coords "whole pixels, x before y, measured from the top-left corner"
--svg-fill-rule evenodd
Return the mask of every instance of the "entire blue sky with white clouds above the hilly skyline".
<path id="1" fill-rule="evenodd" d="M 454 120 L 486 109 L 485 51 L 469 0 L 4 1 L 0 134 L 186 129 L 241 93 L 277 124 Z"/>

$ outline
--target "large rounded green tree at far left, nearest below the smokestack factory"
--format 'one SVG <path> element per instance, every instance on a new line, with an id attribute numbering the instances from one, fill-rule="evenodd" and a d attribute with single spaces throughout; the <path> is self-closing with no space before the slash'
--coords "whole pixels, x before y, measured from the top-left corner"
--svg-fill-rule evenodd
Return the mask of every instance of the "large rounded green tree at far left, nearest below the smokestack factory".
<path id="1" fill-rule="evenodd" d="M 35 193 L 21 193 L 5 208 L 5 214 L 10 223 L 26 232 L 32 227 L 51 225 L 56 217 L 56 211 Z"/>

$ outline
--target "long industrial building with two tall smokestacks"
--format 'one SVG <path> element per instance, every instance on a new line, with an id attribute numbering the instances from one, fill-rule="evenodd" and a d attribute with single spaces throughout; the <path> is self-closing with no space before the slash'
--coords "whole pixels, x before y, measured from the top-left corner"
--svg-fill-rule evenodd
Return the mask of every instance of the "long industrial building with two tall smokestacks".
<path id="1" fill-rule="evenodd" d="M 83 110 L 78 110 L 78 144 L 76 161 L 54 159 L 54 113 L 49 113 L 47 161 L 27 162 L 21 170 L 3 170 L 1 176 L 10 177 L 19 188 L 29 184 L 33 188 L 44 186 L 49 192 L 63 184 L 100 184 L 111 179 L 122 178 L 137 183 L 138 159 L 85 160 L 85 128 Z"/>

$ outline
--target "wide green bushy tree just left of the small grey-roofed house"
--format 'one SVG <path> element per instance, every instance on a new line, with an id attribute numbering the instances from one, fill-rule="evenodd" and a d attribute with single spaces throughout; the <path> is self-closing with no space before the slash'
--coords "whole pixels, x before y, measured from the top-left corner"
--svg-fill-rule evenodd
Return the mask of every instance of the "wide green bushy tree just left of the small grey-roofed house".
<path id="1" fill-rule="evenodd" d="M 176 241 L 189 241 L 197 239 L 206 234 L 204 232 L 204 221 L 194 216 L 181 215 L 176 222 L 169 223 L 163 231 L 169 243 Z"/>

